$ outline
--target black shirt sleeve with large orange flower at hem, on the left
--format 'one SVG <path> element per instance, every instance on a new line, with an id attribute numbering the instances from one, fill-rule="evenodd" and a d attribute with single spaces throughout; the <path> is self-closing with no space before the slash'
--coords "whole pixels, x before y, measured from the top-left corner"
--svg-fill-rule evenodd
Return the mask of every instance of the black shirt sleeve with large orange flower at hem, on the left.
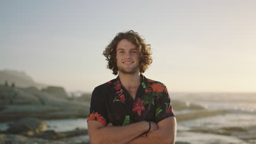
<path id="1" fill-rule="evenodd" d="M 107 124 L 104 95 L 101 95 L 101 92 L 97 88 L 94 89 L 91 95 L 91 106 L 88 121 L 97 121 L 102 123 L 104 126 Z"/>

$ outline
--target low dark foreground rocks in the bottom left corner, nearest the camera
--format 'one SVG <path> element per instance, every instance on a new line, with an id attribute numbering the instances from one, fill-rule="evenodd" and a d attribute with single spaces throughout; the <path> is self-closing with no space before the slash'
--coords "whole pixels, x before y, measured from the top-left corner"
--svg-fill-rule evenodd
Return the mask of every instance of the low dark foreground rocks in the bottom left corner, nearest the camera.
<path id="1" fill-rule="evenodd" d="M 47 124 L 40 119 L 22 118 L 10 123 L 7 130 L 0 131 L 0 143 L 65 143 L 62 141 L 64 138 L 88 135 L 85 128 L 56 132 L 55 130 L 45 130 L 46 127 Z"/>

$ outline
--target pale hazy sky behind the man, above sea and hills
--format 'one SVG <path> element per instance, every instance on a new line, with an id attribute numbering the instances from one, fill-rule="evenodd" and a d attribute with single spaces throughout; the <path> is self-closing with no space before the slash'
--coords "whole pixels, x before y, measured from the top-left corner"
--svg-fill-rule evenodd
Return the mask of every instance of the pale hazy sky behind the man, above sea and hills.
<path id="1" fill-rule="evenodd" d="M 102 52 L 133 30 L 144 73 L 169 92 L 256 92 L 256 1 L 1 1 L 0 70 L 92 92 L 115 79 Z"/>

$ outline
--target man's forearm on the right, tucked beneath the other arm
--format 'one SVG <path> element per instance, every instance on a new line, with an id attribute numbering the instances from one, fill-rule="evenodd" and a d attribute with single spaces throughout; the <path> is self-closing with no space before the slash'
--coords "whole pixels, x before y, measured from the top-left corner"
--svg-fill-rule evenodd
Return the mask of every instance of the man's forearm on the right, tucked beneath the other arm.
<path id="1" fill-rule="evenodd" d="M 147 134 L 147 136 L 142 135 L 138 136 L 135 139 L 128 142 L 129 144 L 143 144 L 143 143 L 174 143 L 176 137 L 176 130 L 172 131 L 172 133 L 166 133 L 164 129 L 157 129 L 151 131 Z"/>

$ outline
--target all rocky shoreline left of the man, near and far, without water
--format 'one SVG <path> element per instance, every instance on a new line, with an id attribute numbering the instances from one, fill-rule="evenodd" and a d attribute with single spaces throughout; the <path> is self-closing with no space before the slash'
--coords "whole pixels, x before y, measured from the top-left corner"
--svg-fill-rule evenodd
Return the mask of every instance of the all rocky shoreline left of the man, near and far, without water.
<path id="1" fill-rule="evenodd" d="M 81 128 L 62 132 L 45 131 L 46 123 L 43 119 L 88 117 L 89 101 L 70 99 L 61 87 L 50 86 L 39 90 L 36 87 L 0 85 L 0 105 L 0 122 L 9 123 L 6 131 L 0 131 L 0 144 L 69 144 L 74 143 L 66 142 L 69 137 L 88 135 L 87 130 Z M 77 143 L 88 143 L 88 140 Z"/>

